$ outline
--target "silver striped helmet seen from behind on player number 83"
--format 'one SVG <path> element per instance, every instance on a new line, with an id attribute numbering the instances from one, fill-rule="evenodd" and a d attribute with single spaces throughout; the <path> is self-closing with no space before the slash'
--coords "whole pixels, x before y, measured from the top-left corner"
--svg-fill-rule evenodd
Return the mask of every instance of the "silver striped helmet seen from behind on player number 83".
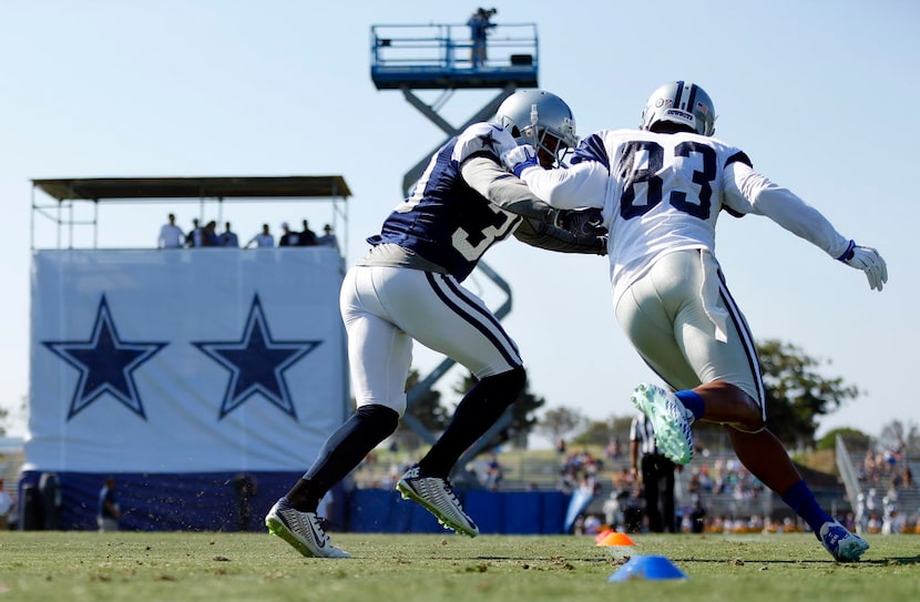
<path id="1" fill-rule="evenodd" d="M 716 131 L 716 108 L 709 94 L 695 83 L 668 82 L 648 96 L 638 127 L 651 130 L 662 121 L 687 125 L 697 134 L 711 136 Z"/>

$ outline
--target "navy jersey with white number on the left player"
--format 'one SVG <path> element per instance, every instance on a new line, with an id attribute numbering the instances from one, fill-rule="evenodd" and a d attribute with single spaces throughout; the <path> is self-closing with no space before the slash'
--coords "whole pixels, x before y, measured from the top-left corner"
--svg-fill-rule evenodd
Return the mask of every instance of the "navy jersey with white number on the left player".
<path id="1" fill-rule="evenodd" d="M 380 234 L 367 242 L 410 249 L 462 282 L 485 251 L 507 238 L 521 218 L 470 187 L 460 167 L 474 156 L 501 164 L 501 154 L 515 145 L 500 125 L 470 125 L 435 153 L 409 197 L 387 217 Z"/>

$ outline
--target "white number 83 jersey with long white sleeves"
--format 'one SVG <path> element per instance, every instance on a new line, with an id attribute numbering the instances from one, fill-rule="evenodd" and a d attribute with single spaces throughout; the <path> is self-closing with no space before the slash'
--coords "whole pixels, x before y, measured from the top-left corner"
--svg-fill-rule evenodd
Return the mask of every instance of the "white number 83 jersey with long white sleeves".
<path id="1" fill-rule="evenodd" d="M 766 215 L 835 258 L 849 243 L 820 213 L 756 173 L 739 149 L 692 133 L 600 131 L 582 141 L 570 170 L 529 169 L 521 177 L 555 207 L 603 210 L 614 303 L 668 253 L 714 255 L 722 210 Z"/>

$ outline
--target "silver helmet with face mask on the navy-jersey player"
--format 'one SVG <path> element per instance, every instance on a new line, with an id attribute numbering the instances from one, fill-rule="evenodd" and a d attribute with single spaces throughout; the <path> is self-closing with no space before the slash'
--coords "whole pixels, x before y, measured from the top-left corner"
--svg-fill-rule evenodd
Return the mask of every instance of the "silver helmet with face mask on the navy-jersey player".
<path id="1" fill-rule="evenodd" d="M 579 145 L 575 118 L 565 102 L 543 90 L 518 90 L 499 106 L 495 121 L 511 132 L 518 144 L 531 144 L 543 150 L 555 162 Z M 554 139 L 548 143 L 548 136 Z"/>

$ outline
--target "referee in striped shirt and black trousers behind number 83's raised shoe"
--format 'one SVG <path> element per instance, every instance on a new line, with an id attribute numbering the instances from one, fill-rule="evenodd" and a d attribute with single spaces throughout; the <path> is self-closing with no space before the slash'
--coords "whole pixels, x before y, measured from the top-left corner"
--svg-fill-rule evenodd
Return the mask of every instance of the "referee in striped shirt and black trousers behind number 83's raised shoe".
<path id="1" fill-rule="evenodd" d="M 642 412 L 630 426 L 630 461 L 633 475 L 642 482 L 648 530 L 653 533 L 675 532 L 674 469 L 683 467 L 662 456 L 655 443 L 652 421 Z"/>

